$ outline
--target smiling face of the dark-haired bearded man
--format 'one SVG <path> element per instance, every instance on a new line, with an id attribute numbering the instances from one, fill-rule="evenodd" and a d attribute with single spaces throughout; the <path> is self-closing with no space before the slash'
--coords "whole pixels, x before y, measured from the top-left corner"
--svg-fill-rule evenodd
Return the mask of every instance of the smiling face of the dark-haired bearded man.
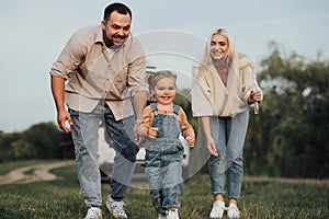
<path id="1" fill-rule="evenodd" d="M 121 14 L 113 11 L 109 19 L 102 21 L 102 28 L 104 31 L 104 41 L 106 44 L 114 45 L 122 44 L 131 34 L 131 16 L 129 14 Z"/>

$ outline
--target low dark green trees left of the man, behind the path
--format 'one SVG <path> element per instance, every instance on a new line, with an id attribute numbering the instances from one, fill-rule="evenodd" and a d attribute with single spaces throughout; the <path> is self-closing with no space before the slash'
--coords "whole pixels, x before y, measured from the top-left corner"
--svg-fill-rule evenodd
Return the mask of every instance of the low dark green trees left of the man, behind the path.
<path id="1" fill-rule="evenodd" d="M 71 136 L 54 123 L 41 123 L 22 132 L 0 131 L 0 162 L 72 158 Z"/>

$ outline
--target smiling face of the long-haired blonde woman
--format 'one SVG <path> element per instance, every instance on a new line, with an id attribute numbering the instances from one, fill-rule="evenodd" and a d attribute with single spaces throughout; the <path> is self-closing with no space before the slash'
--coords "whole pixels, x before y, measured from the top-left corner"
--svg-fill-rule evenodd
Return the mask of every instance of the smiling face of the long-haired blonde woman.
<path id="1" fill-rule="evenodd" d="M 223 59 L 228 51 L 228 41 L 222 34 L 214 34 L 211 39 L 211 56 L 214 60 Z"/>

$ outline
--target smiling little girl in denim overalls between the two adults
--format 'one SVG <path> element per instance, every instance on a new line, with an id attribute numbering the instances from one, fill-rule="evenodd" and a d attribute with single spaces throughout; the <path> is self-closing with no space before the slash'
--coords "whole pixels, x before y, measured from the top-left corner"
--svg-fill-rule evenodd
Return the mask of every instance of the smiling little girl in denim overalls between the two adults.
<path id="1" fill-rule="evenodd" d="M 151 77 L 149 85 L 156 103 L 144 108 L 137 134 L 145 138 L 145 173 L 159 219 L 179 219 L 184 150 L 179 137 L 182 135 L 193 147 L 195 135 L 184 111 L 172 103 L 177 77 L 170 71 Z"/>

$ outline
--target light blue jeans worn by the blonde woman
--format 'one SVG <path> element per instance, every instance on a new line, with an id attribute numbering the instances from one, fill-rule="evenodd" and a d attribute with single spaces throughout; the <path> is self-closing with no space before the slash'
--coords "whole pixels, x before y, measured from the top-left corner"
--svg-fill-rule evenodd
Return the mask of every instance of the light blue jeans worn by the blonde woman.
<path id="1" fill-rule="evenodd" d="M 228 199 L 239 199 L 243 175 L 243 145 L 248 128 L 249 111 L 235 117 L 211 117 L 211 130 L 218 157 L 211 155 L 208 171 L 212 193 L 225 193 L 225 175 Z"/>

